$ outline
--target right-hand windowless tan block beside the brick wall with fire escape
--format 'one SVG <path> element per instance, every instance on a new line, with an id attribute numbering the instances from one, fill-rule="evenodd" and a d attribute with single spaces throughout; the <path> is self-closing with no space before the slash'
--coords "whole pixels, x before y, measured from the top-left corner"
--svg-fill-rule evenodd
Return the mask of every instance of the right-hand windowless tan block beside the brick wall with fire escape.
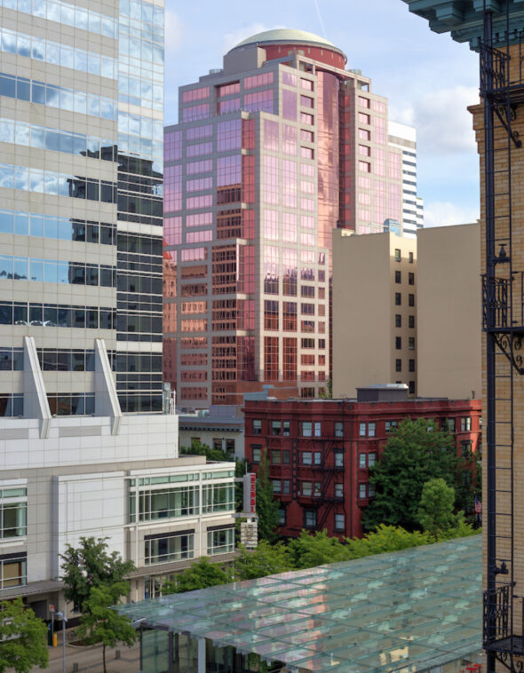
<path id="1" fill-rule="evenodd" d="M 417 235 L 420 397 L 480 398 L 480 224 Z"/>

